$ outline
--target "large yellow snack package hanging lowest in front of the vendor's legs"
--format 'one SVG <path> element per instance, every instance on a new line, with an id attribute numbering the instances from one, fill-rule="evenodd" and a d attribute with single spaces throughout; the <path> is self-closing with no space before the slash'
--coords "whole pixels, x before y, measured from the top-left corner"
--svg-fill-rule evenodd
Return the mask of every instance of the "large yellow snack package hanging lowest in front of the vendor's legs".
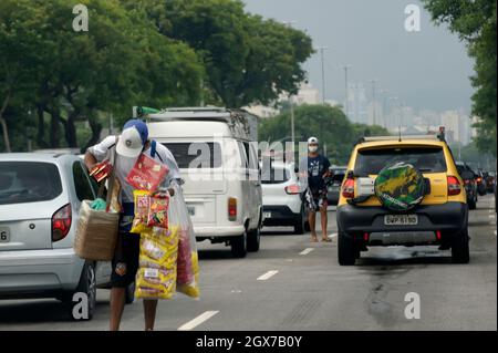
<path id="1" fill-rule="evenodd" d="M 154 227 L 141 235 L 139 268 L 135 297 L 172 299 L 176 292 L 178 227 Z"/>

